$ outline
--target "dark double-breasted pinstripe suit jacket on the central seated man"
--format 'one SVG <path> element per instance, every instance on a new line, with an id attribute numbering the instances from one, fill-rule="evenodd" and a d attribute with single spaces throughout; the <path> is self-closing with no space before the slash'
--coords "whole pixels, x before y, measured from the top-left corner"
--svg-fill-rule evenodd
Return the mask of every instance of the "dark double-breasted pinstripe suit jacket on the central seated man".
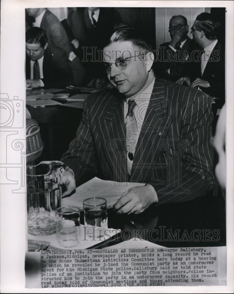
<path id="1" fill-rule="evenodd" d="M 76 184 L 98 176 L 111 181 L 150 183 L 159 204 L 205 195 L 213 187 L 210 98 L 202 91 L 155 78 L 127 173 L 123 97 L 97 92 L 84 102 L 76 138 L 62 161 Z"/>

